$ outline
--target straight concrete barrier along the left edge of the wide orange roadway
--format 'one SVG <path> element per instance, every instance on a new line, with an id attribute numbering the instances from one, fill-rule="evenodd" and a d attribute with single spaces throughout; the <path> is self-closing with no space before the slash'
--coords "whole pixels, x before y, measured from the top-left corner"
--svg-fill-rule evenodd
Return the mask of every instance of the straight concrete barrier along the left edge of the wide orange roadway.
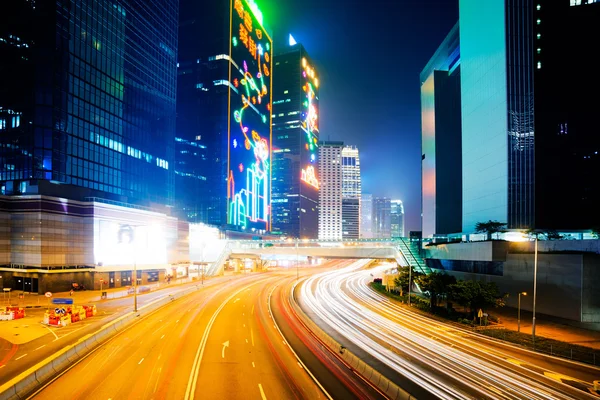
<path id="1" fill-rule="evenodd" d="M 137 312 L 130 312 L 100 327 L 96 332 L 85 335 L 75 343 L 63 347 L 52 356 L 17 375 L 0 386 L 0 400 L 19 400 L 27 398 L 55 376 L 85 357 L 89 352 L 103 344 L 113 335 L 123 331 L 139 317 L 146 316 L 160 307 L 199 290 L 201 285 L 186 287 L 175 293 L 165 294 L 160 298 L 140 307 Z"/>

